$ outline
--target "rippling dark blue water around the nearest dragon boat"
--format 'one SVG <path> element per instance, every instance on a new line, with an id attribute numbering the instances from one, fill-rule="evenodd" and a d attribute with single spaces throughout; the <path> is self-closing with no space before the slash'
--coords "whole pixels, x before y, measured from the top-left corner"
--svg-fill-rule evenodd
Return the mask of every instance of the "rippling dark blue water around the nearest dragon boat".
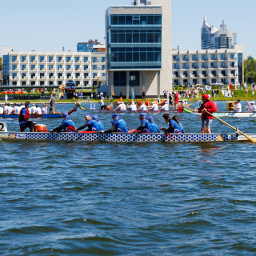
<path id="1" fill-rule="evenodd" d="M 70 118 L 82 126 L 83 114 Z M 109 129 L 111 115 L 98 116 Z M 153 116 L 166 127 L 161 114 Z M 200 131 L 200 118 L 179 117 L 186 132 Z M 138 114 L 123 118 L 130 129 L 139 126 Z M 256 133 L 256 119 L 223 119 Z M 62 119 L 37 122 L 50 130 Z M 7 124 L 18 131 L 17 120 Z M 218 121 L 212 131 L 233 133 Z M 251 142 L 0 146 L 1 255 L 255 254 Z"/>

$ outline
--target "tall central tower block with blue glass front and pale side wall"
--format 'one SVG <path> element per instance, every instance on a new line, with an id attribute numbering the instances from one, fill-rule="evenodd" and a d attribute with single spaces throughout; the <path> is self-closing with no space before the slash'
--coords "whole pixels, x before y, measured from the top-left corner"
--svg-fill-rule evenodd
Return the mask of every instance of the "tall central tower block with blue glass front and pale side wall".
<path id="1" fill-rule="evenodd" d="M 171 0 L 106 10 L 107 93 L 155 98 L 171 90 Z"/>

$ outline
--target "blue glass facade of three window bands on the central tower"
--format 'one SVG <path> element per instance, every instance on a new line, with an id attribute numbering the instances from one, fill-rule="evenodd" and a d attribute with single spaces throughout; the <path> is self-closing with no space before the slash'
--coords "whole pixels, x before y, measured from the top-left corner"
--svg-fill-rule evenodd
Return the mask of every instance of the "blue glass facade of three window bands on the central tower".
<path id="1" fill-rule="evenodd" d="M 112 14 L 107 29 L 109 70 L 162 68 L 162 15 Z M 122 84 L 122 79 L 116 81 Z"/>

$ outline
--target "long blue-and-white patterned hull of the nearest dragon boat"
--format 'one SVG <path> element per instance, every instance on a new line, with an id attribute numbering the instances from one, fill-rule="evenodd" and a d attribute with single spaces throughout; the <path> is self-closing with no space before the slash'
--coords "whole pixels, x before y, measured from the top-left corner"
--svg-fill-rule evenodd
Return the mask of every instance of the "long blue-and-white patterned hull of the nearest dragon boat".
<path id="1" fill-rule="evenodd" d="M 256 138 L 256 134 L 248 134 Z M 128 133 L 0 133 L 0 139 L 9 141 L 56 141 L 56 142 L 237 142 L 248 141 L 238 134 L 128 134 Z"/>

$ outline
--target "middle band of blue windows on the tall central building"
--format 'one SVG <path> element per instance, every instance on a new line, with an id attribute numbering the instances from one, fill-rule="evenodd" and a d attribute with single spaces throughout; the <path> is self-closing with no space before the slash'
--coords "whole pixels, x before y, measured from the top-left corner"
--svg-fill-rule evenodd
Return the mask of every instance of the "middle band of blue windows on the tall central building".
<path id="1" fill-rule="evenodd" d="M 114 30 L 109 37 L 110 43 L 161 43 L 161 30 Z"/>

